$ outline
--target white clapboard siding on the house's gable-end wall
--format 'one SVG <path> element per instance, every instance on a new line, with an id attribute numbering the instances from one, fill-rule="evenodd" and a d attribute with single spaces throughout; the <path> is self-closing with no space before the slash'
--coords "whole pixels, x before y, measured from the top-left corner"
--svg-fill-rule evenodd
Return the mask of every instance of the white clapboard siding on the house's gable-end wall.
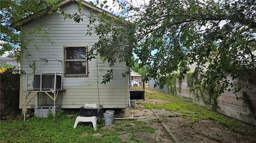
<path id="1" fill-rule="evenodd" d="M 74 14 L 78 12 L 76 2 L 71 2 L 62 8 L 66 13 Z M 90 9 L 86 8 L 84 14 L 90 15 Z M 64 73 L 64 45 L 88 45 L 89 48 L 99 39 L 96 33 L 86 35 L 88 18 L 84 17 L 79 24 L 74 20 L 64 20 L 60 14 L 53 12 L 38 21 L 32 21 L 24 25 L 23 32 L 27 39 L 32 39 L 28 43 L 26 51 L 23 53 L 22 70 L 32 73 L 30 67 L 35 61 L 36 73 Z M 34 32 L 34 28 L 41 26 L 42 32 L 48 33 L 48 37 L 42 38 L 40 34 Z M 44 39 L 44 40 L 42 40 Z M 48 41 L 50 39 L 50 41 Z M 51 43 L 53 42 L 53 43 Z M 35 44 L 36 43 L 36 44 Z M 47 59 L 48 62 L 40 61 Z M 88 76 L 65 77 L 62 79 L 62 91 L 58 93 L 56 104 L 62 104 L 62 108 L 80 108 L 85 103 L 96 103 L 103 105 L 103 108 L 126 108 L 128 103 L 127 80 L 122 77 L 127 69 L 125 63 L 116 63 L 113 67 L 114 79 L 109 83 L 101 84 L 103 76 L 110 70 L 107 61 L 102 61 L 101 57 L 88 61 Z M 26 86 L 33 89 L 34 75 L 23 75 L 22 80 L 22 106 L 25 104 Z M 31 98 L 32 94 L 28 96 Z M 52 95 L 53 96 L 53 95 Z M 53 104 L 53 101 L 44 93 L 38 95 L 39 104 Z M 31 100 L 27 108 L 35 105 L 35 98 Z"/>

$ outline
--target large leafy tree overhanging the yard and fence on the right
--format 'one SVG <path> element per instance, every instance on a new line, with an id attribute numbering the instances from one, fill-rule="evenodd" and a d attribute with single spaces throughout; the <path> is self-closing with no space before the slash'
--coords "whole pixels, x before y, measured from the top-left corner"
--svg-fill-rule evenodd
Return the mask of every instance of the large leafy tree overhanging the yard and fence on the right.
<path id="1" fill-rule="evenodd" d="M 105 3 L 101 7 L 108 8 Z M 213 96 L 217 97 L 226 89 L 241 90 L 246 80 L 243 76 L 255 71 L 256 1 L 150 0 L 149 4 L 134 6 L 116 0 L 113 4 L 121 11 L 114 18 L 115 24 L 122 25 L 118 20 L 126 19 L 126 28 L 135 26 L 134 35 L 128 39 L 141 61 L 140 67 L 149 68 L 146 80 L 155 78 L 160 87 L 170 74 L 178 71 L 183 77 L 190 70 L 188 65 L 196 63 L 195 74 L 200 75 L 197 86 L 214 90 Z M 109 18 L 98 21 L 108 22 Z M 114 30 L 107 33 L 119 31 Z M 95 48 L 98 54 L 104 49 Z M 121 57 L 129 58 L 125 54 Z"/>

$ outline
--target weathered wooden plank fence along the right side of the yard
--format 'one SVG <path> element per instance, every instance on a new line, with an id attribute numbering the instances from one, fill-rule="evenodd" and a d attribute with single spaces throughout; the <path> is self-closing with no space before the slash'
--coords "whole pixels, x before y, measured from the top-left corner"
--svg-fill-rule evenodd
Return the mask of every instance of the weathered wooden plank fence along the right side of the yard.
<path id="1" fill-rule="evenodd" d="M 206 102 L 208 95 L 201 95 L 198 92 L 190 91 L 187 79 L 182 79 L 182 82 L 176 82 L 176 95 L 185 98 L 191 102 L 199 104 L 201 106 L 207 106 L 211 109 L 215 109 L 226 116 L 244 121 L 251 125 L 256 125 L 256 76 L 250 77 L 251 86 L 253 89 L 244 90 L 240 92 L 224 91 L 224 93 L 216 99 L 216 107 Z M 149 87 L 154 88 L 154 80 L 149 81 Z M 160 89 L 158 86 L 156 89 L 162 90 L 163 92 L 171 93 L 168 85 Z M 172 88 L 173 89 L 173 88 Z"/>

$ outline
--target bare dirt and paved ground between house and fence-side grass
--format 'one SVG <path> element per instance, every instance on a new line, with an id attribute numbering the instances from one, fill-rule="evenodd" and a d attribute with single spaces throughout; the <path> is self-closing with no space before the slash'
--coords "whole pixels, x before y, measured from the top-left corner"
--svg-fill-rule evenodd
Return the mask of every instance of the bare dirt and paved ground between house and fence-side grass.
<path id="1" fill-rule="evenodd" d="M 147 90 L 146 92 L 154 92 Z M 143 101 L 143 100 L 141 100 Z M 145 97 L 143 102 L 153 102 L 157 104 L 162 104 L 165 100 L 149 99 Z M 245 136 L 233 132 L 232 130 L 224 127 L 220 123 L 211 119 L 201 119 L 198 121 L 193 121 L 190 117 L 177 116 L 181 114 L 180 112 L 167 111 L 167 110 L 146 110 L 144 109 L 144 104 L 137 104 L 136 109 L 132 110 L 132 115 L 134 117 L 144 117 L 150 120 L 157 118 L 160 123 L 154 123 L 154 126 L 158 127 L 158 133 L 169 133 L 172 137 L 161 138 L 160 135 L 158 139 L 161 143 L 254 143 L 256 142 L 256 135 L 250 137 L 247 140 Z M 168 117 L 173 115 L 172 117 Z M 233 119 L 233 118 L 230 118 Z M 236 119 L 233 119 L 236 120 Z M 239 121 L 238 121 L 239 122 Z M 153 125 L 153 124 L 152 124 Z M 246 126 L 250 126 L 244 123 Z M 253 128 L 255 128 L 253 126 Z M 159 134 L 154 133 L 154 137 L 159 136 Z M 255 138 L 255 140 L 254 140 Z M 149 140 L 148 140 L 149 141 Z M 149 141 L 150 142 L 150 141 Z"/>

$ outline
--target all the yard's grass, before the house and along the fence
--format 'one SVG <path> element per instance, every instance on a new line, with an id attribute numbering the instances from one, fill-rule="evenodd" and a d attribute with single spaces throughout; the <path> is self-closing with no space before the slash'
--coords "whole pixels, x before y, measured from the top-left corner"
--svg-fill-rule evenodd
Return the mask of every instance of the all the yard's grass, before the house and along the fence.
<path id="1" fill-rule="evenodd" d="M 217 112 L 186 102 L 176 96 L 163 92 L 146 93 L 145 96 L 166 100 L 163 104 L 138 101 L 140 104 L 144 104 L 146 109 L 163 108 L 175 110 L 182 112 L 183 116 L 192 117 L 195 121 L 198 119 L 214 119 L 237 133 L 256 135 L 255 126 L 245 127 L 241 122 L 238 123 Z M 136 133 L 154 133 L 157 128 L 152 127 L 152 124 L 159 122 L 145 123 L 140 120 L 115 120 L 114 126 L 106 127 L 103 120 L 98 124 L 97 130 L 94 131 L 90 123 L 84 125 L 80 123 L 74 129 L 73 125 L 76 116 L 78 114 L 68 116 L 67 113 L 61 110 L 55 117 L 32 117 L 27 121 L 23 121 L 22 116 L 18 119 L 9 118 L 1 121 L 0 141 L 1 143 L 146 143 L 147 141 L 136 136 Z M 128 138 L 122 139 L 121 136 L 126 134 L 129 134 Z"/>

